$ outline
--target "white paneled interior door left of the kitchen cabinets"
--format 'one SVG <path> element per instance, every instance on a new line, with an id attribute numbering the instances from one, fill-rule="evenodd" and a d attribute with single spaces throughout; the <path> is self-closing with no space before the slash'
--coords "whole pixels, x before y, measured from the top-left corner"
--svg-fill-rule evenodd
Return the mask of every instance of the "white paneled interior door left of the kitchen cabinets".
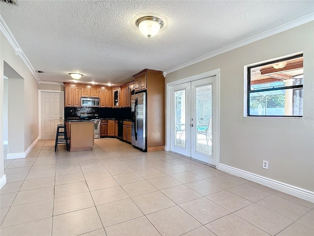
<path id="1" fill-rule="evenodd" d="M 61 92 L 41 92 L 42 139 L 55 139 L 57 125 L 62 123 L 61 101 Z"/>

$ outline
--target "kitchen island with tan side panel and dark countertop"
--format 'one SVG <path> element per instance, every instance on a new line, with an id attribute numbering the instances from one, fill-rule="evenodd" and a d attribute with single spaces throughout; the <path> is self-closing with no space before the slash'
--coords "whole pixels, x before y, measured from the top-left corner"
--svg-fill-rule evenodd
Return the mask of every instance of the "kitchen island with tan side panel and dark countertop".
<path id="1" fill-rule="evenodd" d="M 94 146 L 94 121 L 67 120 L 70 151 L 91 150 Z"/>

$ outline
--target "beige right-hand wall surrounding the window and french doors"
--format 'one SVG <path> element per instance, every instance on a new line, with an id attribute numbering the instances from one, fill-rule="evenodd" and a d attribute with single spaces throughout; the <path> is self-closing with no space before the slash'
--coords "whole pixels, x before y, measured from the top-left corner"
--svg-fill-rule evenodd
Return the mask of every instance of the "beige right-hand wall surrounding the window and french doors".
<path id="1" fill-rule="evenodd" d="M 169 73 L 166 83 L 220 68 L 220 163 L 313 191 L 313 42 L 312 21 Z M 244 118 L 244 66 L 297 52 L 304 54 L 303 118 Z"/>

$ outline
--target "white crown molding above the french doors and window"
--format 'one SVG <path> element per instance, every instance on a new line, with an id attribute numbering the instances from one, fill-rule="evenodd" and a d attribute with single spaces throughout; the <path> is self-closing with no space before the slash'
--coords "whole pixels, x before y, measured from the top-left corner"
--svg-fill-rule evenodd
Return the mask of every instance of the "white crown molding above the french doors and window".
<path id="1" fill-rule="evenodd" d="M 294 27 L 301 26 L 301 25 L 306 24 L 306 23 L 309 23 L 309 22 L 311 22 L 311 21 L 314 21 L 314 12 L 309 13 L 309 14 L 307 14 L 307 15 L 305 15 L 305 16 L 299 17 L 299 18 L 297 18 L 297 19 L 295 19 L 295 20 L 289 21 L 289 22 L 287 22 L 287 23 L 285 23 L 285 24 L 282 24 L 282 25 L 280 25 L 280 26 L 274 27 L 274 28 L 272 28 L 272 29 L 268 29 L 268 30 L 266 30 L 266 31 L 263 31 L 263 32 L 258 33 L 258 34 L 256 34 L 256 35 L 253 35 L 253 36 L 251 36 L 251 37 L 248 37 L 248 38 L 246 38 L 246 39 L 243 39 L 243 40 L 241 40 L 241 41 L 238 41 L 238 42 L 236 42 L 236 43 L 233 43 L 233 44 L 231 44 L 231 45 L 229 45 L 229 46 L 226 46 L 226 47 L 223 47 L 223 48 L 218 49 L 218 50 L 216 50 L 216 51 L 213 51 L 213 52 L 211 52 L 211 53 L 209 53 L 209 54 L 206 54 L 206 55 L 204 55 L 204 56 L 202 56 L 202 57 L 199 57 L 199 58 L 190 60 L 190 61 L 188 61 L 188 62 L 185 62 L 185 63 L 183 63 L 183 64 L 181 64 L 181 65 L 178 65 L 178 66 L 173 67 L 173 68 L 171 68 L 171 69 L 169 69 L 169 70 L 166 70 L 165 73 L 166 73 L 166 74 L 169 74 L 169 73 L 171 73 L 171 72 L 180 70 L 180 69 L 182 69 L 182 68 L 184 68 L 184 67 L 187 67 L 187 66 L 189 66 L 189 65 L 193 65 L 193 64 L 198 63 L 198 62 L 201 62 L 201 61 L 203 61 L 203 60 L 206 60 L 206 59 L 209 59 L 209 58 L 213 58 L 213 57 L 218 56 L 218 55 L 220 55 L 220 54 L 229 52 L 229 51 L 234 50 L 234 49 L 236 49 L 236 48 L 239 48 L 239 47 L 245 46 L 245 45 L 247 45 L 247 44 L 256 42 L 256 41 L 261 40 L 261 39 L 263 39 L 263 38 L 267 38 L 267 37 L 269 37 L 269 36 L 272 36 L 272 35 L 274 35 L 274 34 L 277 34 L 277 33 L 283 32 L 283 31 L 286 31 L 286 30 L 288 30 L 288 29 L 292 29 L 292 28 L 294 28 Z"/>

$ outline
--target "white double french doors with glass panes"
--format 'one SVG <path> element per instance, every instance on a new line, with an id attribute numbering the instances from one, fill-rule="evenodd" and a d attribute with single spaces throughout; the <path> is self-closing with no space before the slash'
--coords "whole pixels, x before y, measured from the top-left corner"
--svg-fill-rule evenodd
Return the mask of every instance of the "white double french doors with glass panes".
<path id="1" fill-rule="evenodd" d="M 215 76 L 171 87 L 171 150 L 216 166 Z"/>

